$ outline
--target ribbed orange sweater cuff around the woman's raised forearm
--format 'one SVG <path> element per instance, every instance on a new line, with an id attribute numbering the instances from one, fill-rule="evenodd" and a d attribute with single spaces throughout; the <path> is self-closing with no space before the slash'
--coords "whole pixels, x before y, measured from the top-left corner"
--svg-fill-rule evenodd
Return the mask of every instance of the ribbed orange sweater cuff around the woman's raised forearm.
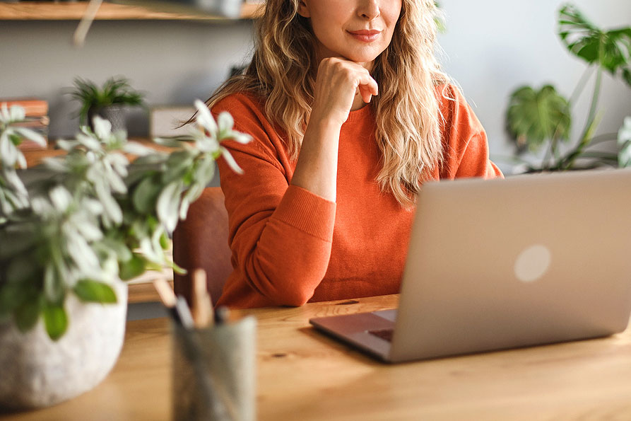
<path id="1" fill-rule="evenodd" d="M 335 202 L 290 185 L 276 207 L 273 218 L 330 242 L 333 240 L 335 209 Z"/>

